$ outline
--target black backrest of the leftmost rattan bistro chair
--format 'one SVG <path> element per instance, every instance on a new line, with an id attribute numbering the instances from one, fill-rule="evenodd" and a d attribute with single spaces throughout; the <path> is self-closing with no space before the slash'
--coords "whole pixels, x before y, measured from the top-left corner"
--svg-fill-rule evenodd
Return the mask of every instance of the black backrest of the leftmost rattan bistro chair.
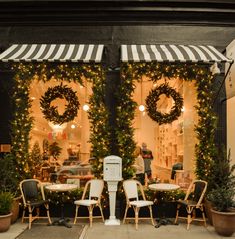
<path id="1" fill-rule="evenodd" d="M 41 182 L 37 179 L 25 179 L 21 181 L 20 191 L 24 204 L 28 201 L 36 201 L 39 197 L 45 199 L 44 193 L 42 192 Z"/>

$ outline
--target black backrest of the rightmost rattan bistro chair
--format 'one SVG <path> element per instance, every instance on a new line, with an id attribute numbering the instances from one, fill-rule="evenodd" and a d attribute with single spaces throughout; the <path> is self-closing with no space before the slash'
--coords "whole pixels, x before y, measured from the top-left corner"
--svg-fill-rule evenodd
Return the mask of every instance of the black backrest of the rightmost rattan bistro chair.
<path id="1" fill-rule="evenodd" d="M 206 193 L 207 182 L 203 180 L 194 180 L 187 191 L 186 200 L 192 194 L 192 200 L 197 202 L 197 204 L 201 204 Z"/>

